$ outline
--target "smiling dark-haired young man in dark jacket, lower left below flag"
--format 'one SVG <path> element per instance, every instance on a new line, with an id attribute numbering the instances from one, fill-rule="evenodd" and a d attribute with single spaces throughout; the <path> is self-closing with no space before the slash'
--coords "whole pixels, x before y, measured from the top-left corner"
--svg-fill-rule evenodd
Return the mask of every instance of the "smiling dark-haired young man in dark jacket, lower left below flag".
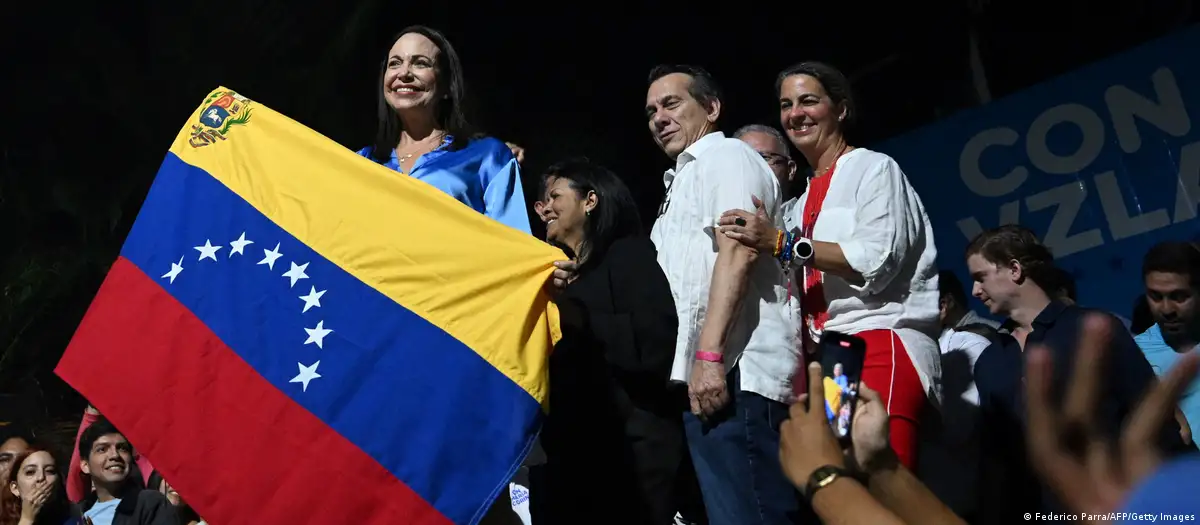
<path id="1" fill-rule="evenodd" d="M 88 525 L 178 525 L 158 490 L 144 489 L 133 472 L 133 447 L 108 420 L 96 420 L 79 436 L 83 473 L 95 491 L 80 505 Z"/>

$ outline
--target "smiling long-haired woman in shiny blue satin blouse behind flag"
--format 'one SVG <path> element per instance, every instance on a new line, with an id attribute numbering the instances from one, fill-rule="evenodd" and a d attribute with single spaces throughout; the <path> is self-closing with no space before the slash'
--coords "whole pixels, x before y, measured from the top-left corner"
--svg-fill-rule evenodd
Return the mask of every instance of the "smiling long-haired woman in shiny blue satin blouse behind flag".
<path id="1" fill-rule="evenodd" d="M 376 138 L 359 155 L 529 233 L 520 163 L 505 143 L 472 128 L 462 62 L 445 36 L 421 25 L 402 30 L 379 83 Z"/>

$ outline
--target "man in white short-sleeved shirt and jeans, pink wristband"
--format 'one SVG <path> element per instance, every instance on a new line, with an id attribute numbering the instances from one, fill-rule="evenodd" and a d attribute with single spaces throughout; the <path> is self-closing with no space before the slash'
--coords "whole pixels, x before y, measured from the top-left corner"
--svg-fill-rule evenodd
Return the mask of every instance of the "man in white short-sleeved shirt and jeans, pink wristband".
<path id="1" fill-rule="evenodd" d="M 779 464 L 779 426 L 800 373 L 797 320 L 775 259 L 715 230 L 725 210 L 754 210 L 751 195 L 779 222 L 779 182 L 716 131 L 720 90 L 707 72 L 659 66 L 649 82 L 650 134 L 676 162 L 650 239 L 679 314 L 672 380 L 688 384 L 684 426 L 708 519 L 790 524 L 798 499 Z"/>

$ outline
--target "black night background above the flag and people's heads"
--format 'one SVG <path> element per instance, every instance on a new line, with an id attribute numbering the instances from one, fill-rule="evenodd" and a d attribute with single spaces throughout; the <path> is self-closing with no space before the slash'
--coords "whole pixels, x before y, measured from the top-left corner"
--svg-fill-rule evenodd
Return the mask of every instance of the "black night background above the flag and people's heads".
<path id="1" fill-rule="evenodd" d="M 466 62 L 475 121 L 527 147 L 527 193 L 548 163 L 586 155 L 649 212 L 668 167 L 642 111 L 655 64 L 712 71 L 731 132 L 778 126 L 781 68 L 830 62 L 854 82 L 858 143 L 870 145 L 985 102 L 971 82 L 972 34 L 990 93 L 1002 97 L 1198 18 L 1190 0 L 510 4 L 6 5 L 0 422 L 78 417 L 83 400 L 54 364 L 169 144 L 217 85 L 358 149 L 374 132 L 392 36 L 427 24 Z"/>

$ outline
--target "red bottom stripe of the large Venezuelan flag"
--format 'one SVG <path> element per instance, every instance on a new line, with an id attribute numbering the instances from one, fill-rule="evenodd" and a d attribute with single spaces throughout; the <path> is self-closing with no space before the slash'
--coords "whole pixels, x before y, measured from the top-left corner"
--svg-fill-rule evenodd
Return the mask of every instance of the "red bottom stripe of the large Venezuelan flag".
<path id="1" fill-rule="evenodd" d="M 450 524 L 124 258 L 55 372 L 211 523 Z"/>

